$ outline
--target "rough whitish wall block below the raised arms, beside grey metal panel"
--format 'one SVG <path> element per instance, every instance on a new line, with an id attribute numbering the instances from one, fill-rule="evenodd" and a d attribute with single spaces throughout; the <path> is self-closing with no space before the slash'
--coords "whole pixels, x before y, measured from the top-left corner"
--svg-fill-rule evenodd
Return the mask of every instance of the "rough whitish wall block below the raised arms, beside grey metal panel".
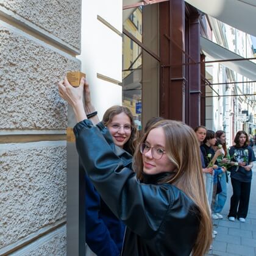
<path id="1" fill-rule="evenodd" d="M 66 217 L 66 141 L 0 144 L 0 249 Z"/>

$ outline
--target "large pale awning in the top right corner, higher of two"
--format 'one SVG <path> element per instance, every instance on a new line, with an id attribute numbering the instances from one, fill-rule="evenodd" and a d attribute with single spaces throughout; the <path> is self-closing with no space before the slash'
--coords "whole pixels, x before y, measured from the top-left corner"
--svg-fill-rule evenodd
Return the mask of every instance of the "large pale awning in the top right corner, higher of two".
<path id="1" fill-rule="evenodd" d="M 255 0 L 185 0 L 217 20 L 256 37 Z"/>

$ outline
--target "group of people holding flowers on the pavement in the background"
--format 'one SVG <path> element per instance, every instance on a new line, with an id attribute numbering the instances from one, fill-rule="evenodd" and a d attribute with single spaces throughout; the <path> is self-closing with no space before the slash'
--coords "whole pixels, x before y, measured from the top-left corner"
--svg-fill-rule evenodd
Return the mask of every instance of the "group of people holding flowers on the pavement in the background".
<path id="1" fill-rule="evenodd" d="M 202 171 L 205 173 L 205 188 L 213 219 L 222 219 L 221 210 L 227 199 L 227 182 L 230 178 L 233 195 L 230 199 L 229 220 L 246 221 L 251 191 L 254 151 L 249 146 L 249 137 L 240 130 L 234 145 L 227 148 L 226 133 L 213 132 L 204 126 L 194 129 L 201 149 Z M 213 232 L 213 237 L 216 235 Z"/>

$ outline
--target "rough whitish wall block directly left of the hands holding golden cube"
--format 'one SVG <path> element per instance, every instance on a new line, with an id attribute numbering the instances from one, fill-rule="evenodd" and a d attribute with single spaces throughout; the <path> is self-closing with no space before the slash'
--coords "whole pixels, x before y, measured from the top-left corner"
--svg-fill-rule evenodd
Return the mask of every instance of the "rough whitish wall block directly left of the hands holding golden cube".
<path id="1" fill-rule="evenodd" d="M 0 130 L 66 129 L 57 82 L 80 61 L 1 21 L 0 41 Z"/>

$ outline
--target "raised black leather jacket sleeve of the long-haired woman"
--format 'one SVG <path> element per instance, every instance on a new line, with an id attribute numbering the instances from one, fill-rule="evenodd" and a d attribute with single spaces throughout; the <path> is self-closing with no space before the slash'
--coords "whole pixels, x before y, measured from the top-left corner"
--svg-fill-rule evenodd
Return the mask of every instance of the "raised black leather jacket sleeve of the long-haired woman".
<path id="1" fill-rule="evenodd" d="M 76 147 L 82 165 L 112 212 L 133 232 L 151 238 L 179 195 L 174 194 L 172 186 L 140 183 L 130 168 L 132 158 L 116 155 L 104 132 L 107 128 L 94 127 L 87 119 L 76 124 Z"/>

